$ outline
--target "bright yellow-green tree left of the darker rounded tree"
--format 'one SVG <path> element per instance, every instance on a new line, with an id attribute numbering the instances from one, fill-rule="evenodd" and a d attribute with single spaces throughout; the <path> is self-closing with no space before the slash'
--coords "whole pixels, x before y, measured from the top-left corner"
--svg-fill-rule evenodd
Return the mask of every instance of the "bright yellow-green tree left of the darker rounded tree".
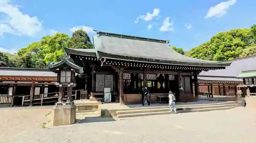
<path id="1" fill-rule="evenodd" d="M 19 67 L 45 68 L 49 62 L 58 62 L 65 54 L 65 47 L 68 47 L 69 36 L 66 34 L 55 34 L 42 37 L 39 42 L 29 44 L 20 49 L 15 60 Z"/>

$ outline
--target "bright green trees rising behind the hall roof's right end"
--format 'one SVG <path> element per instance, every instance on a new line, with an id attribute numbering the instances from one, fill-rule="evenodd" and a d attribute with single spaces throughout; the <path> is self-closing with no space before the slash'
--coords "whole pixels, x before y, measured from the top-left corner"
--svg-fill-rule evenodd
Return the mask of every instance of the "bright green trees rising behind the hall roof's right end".
<path id="1" fill-rule="evenodd" d="M 190 50 L 192 58 L 210 61 L 228 61 L 237 59 L 252 43 L 250 29 L 236 29 L 220 32 L 210 41 Z"/>

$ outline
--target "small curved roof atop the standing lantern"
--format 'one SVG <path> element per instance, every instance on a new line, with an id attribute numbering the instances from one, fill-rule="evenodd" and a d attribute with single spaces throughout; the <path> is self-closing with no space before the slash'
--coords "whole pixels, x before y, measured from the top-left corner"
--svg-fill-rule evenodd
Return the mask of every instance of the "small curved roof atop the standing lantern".
<path id="1" fill-rule="evenodd" d="M 64 56 L 63 59 L 60 62 L 57 63 L 52 63 L 47 66 L 48 69 L 50 70 L 56 70 L 59 69 L 60 67 L 69 67 L 70 69 L 74 70 L 77 73 L 83 73 L 83 67 L 80 67 L 76 65 L 72 59 L 70 59 L 68 56 Z"/>

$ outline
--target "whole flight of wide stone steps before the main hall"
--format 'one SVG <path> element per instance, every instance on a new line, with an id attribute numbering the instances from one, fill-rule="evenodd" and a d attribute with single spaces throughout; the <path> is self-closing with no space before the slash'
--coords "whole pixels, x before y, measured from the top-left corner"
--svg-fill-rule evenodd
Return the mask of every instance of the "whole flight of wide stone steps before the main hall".
<path id="1" fill-rule="evenodd" d="M 177 112 L 200 112 L 200 111 L 212 111 L 212 110 L 225 110 L 238 106 L 235 101 L 211 103 L 211 104 L 190 104 L 190 105 L 177 105 Z M 168 106 L 156 106 L 156 107 L 139 107 L 120 109 L 116 111 L 117 118 L 129 118 L 139 116 L 151 116 L 151 115 L 164 115 L 170 114 Z"/>

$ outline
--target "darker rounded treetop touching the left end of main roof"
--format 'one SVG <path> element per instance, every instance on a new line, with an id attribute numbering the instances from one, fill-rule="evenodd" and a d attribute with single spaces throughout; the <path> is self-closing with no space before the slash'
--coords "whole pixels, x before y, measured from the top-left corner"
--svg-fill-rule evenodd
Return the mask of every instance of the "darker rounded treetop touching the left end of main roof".
<path id="1" fill-rule="evenodd" d="M 76 49 L 91 49 L 93 44 L 85 31 L 78 30 L 72 34 L 68 42 L 69 48 Z"/>

